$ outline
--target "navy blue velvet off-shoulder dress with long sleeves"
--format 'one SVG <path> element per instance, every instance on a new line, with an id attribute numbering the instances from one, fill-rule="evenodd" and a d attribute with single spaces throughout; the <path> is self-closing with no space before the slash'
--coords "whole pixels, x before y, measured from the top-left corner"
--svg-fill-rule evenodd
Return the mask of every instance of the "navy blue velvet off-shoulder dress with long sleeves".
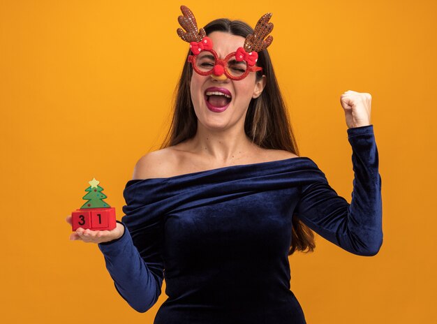
<path id="1" fill-rule="evenodd" d="M 119 294 L 154 324 L 306 323 L 290 290 L 292 217 L 342 249 L 378 253 L 381 178 L 373 125 L 349 128 L 350 204 L 308 157 L 126 184 L 117 240 L 98 244 Z"/>

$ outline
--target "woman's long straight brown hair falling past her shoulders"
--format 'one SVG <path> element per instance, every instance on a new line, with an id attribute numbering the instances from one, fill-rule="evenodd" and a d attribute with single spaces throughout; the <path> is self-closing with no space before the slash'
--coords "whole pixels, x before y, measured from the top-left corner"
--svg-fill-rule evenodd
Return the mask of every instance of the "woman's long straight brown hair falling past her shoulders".
<path id="1" fill-rule="evenodd" d="M 207 35 L 213 31 L 223 31 L 246 38 L 247 35 L 253 33 L 253 29 L 248 24 L 239 20 L 218 19 L 209 22 L 204 28 Z M 188 54 L 190 54 L 189 51 Z M 262 78 L 263 74 L 267 77 L 267 80 L 261 95 L 258 98 L 252 98 L 249 103 L 244 121 L 244 131 L 253 143 L 262 148 L 283 149 L 299 155 L 295 135 L 289 122 L 288 111 L 283 102 L 267 50 L 258 53 L 257 65 L 262 67 L 262 71 L 257 72 L 257 80 Z M 192 73 L 193 70 L 187 62 L 184 65 L 175 91 L 173 117 L 161 149 L 193 138 L 197 131 L 198 120 L 194 112 L 190 92 Z M 310 252 L 315 247 L 313 231 L 293 216 L 292 241 L 290 242 L 288 255 L 295 251 Z"/>

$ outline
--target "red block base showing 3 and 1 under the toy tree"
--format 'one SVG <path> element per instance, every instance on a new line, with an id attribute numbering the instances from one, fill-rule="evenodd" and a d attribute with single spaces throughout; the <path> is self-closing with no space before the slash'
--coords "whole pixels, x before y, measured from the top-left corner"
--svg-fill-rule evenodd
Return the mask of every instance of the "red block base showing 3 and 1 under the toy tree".
<path id="1" fill-rule="evenodd" d="M 76 209 L 71 213 L 71 228 L 89 228 L 90 230 L 113 230 L 116 226 L 115 208 Z"/>

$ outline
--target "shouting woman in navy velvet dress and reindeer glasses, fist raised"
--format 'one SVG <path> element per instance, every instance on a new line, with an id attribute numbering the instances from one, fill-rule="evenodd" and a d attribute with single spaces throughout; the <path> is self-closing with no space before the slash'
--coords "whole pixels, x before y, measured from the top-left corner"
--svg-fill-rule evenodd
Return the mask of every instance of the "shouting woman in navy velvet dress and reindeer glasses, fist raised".
<path id="1" fill-rule="evenodd" d="M 155 324 L 306 323 L 288 256 L 313 251 L 311 230 L 361 256 L 383 242 L 371 96 L 341 96 L 355 171 L 349 204 L 298 156 L 266 50 L 270 15 L 255 31 L 220 19 L 204 33 L 182 12 L 178 34 L 191 50 L 168 138 L 135 165 L 117 228 L 79 228 L 71 240 L 98 243 L 137 311 L 155 304 L 165 277 Z"/>

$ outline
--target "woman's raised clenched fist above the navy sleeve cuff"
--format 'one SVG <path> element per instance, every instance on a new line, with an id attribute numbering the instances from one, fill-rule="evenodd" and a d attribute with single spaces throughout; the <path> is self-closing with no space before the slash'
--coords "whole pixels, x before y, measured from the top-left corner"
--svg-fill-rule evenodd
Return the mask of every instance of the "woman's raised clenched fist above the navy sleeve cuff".
<path id="1" fill-rule="evenodd" d="M 340 97 L 348 128 L 370 125 L 371 94 L 348 90 Z"/>

